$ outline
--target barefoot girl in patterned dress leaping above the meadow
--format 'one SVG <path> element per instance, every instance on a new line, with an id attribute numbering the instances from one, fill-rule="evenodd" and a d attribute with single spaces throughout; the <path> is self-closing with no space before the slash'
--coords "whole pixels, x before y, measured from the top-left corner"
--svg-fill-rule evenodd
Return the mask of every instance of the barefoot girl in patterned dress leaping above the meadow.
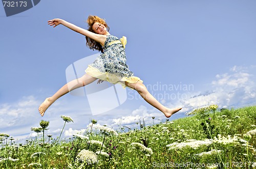
<path id="1" fill-rule="evenodd" d="M 50 26 L 56 27 L 59 24 L 67 26 L 69 29 L 86 36 L 87 46 L 90 49 L 96 49 L 102 52 L 97 59 L 88 66 L 85 74 L 73 81 L 68 82 L 60 88 L 53 96 L 46 98 L 39 106 L 38 110 L 41 116 L 44 116 L 47 108 L 61 96 L 68 92 L 84 87 L 98 79 L 98 83 L 109 81 L 111 83 L 121 83 L 125 87 L 136 90 L 140 96 L 149 104 L 163 112 L 166 118 L 169 118 L 181 108 L 167 108 L 159 103 L 143 85 L 143 81 L 134 76 L 126 65 L 125 44 L 126 38 L 119 40 L 117 37 L 110 35 L 109 26 L 104 19 L 98 16 L 89 16 L 87 20 L 89 29 L 84 30 L 72 23 L 62 19 L 49 20 Z"/>

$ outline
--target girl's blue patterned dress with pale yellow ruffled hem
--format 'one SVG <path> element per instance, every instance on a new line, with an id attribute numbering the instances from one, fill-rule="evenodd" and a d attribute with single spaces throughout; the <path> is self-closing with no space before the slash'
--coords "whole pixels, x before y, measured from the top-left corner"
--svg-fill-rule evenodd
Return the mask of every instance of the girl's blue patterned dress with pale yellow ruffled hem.
<path id="1" fill-rule="evenodd" d="M 130 83 L 135 83 L 137 81 L 143 82 L 129 70 L 129 66 L 126 64 L 126 54 L 123 44 L 121 42 L 111 44 L 111 42 L 118 40 L 119 39 L 115 36 L 106 36 L 103 53 L 88 66 L 86 73 L 114 84 L 119 82 L 124 88 L 124 81 Z"/>

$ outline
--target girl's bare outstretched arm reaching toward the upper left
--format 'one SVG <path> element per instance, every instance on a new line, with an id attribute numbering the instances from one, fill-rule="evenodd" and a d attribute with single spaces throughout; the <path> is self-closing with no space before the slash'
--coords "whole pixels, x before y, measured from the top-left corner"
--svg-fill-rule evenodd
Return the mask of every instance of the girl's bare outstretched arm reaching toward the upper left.
<path id="1" fill-rule="evenodd" d="M 82 34 L 84 36 L 87 36 L 87 37 L 89 37 L 89 38 L 91 38 L 91 39 L 93 39 L 93 40 L 95 40 L 95 41 L 97 41 L 101 44 L 104 44 L 104 42 L 106 40 L 105 35 L 95 34 L 95 33 L 90 32 L 88 30 L 84 30 L 81 27 L 78 27 L 78 26 L 76 26 L 76 25 L 74 25 L 70 22 L 67 22 L 63 19 L 52 19 L 52 20 L 48 21 L 48 24 L 50 26 L 53 26 L 53 27 L 56 27 L 57 25 L 62 24 L 64 26 L 68 27 L 69 29 L 71 29 L 71 30 L 73 30 L 73 31 L 75 31 L 79 34 Z"/>

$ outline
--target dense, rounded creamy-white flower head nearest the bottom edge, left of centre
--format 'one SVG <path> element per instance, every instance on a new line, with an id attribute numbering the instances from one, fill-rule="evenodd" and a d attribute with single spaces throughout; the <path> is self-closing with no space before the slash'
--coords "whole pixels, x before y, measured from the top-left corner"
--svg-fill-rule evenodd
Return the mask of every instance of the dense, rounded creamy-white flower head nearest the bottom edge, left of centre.
<path id="1" fill-rule="evenodd" d="M 93 164 L 97 162 L 98 156 L 92 151 L 83 149 L 78 153 L 77 158 L 88 164 Z"/>

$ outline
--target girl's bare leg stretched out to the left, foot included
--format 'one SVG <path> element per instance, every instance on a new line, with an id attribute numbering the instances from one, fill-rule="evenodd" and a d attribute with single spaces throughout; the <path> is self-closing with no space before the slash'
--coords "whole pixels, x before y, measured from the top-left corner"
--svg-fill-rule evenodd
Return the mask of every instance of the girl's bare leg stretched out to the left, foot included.
<path id="1" fill-rule="evenodd" d="M 97 78 L 90 76 L 89 74 L 84 74 L 82 77 L 72 80 L 60 88 L 52 97 L 46 98 L 44 102 L 39 106 L 38 110 L 41 116 L 44 116 L 46 109 L 55 102 L 61 96 L 69 93 L 70 91 L 86 86 L 91 82 L 95 81 Z"/>

